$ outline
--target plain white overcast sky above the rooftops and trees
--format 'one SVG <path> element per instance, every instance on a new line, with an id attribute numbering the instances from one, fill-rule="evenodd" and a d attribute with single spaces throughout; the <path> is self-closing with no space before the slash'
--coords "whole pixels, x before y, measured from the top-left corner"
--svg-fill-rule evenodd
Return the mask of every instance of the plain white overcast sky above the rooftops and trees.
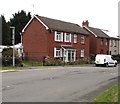
<path id="1" fill-rule="evenodd" d="M 118 36 L 118 2 L 120 0 L 2 0 L 0 14 L 6 21 L 14 13 L 24 10 L 31 15 L 76 23 L 88 20 L 90 27 L 109 30 Z M 34 6 L 33 6 L 34 5 Z"/>

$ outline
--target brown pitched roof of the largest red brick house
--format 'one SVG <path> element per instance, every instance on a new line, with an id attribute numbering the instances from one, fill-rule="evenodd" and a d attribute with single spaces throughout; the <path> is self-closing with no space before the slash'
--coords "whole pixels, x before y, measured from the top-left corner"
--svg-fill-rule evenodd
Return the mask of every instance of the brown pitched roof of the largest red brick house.
<path id="1" fill-rule="evenodd" d="M 89 35 L 79 25 L 36 15 L 50 30 Z"/>

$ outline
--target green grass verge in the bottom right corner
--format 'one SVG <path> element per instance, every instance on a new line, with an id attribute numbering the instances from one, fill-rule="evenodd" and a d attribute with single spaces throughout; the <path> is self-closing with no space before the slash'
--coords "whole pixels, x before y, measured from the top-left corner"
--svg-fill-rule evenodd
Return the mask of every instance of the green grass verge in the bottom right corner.
<path id="1" fill-rule="evenodd" d="M 106 90 L 104 93 L 100 94 L 93 100 L 93 104 L 96 104 L 96 102 L 118 102 L 118 87 L 120 87 L 120 84 L 116 84 L 110 89 Z"/>

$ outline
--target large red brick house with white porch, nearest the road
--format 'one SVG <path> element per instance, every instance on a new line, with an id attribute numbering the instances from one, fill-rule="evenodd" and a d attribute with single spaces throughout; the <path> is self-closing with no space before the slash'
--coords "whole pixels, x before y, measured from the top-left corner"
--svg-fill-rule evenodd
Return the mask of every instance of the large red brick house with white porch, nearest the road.
<path id="1" fill-rule="evenodd" d="M 63 61 L 89 58 L 89 33 L 79 25 L 35 15 L 22 30 L 24 56 L 43 61 L 46 56 Z"/>

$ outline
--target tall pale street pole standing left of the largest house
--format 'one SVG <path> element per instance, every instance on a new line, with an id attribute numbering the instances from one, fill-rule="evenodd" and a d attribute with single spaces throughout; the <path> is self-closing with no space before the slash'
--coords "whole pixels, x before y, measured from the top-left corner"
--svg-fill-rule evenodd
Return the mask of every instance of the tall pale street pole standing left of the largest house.
<path id="1" fill-rule="evenodd" d="M 13 45 L 13 66 L 15 66 L 15 27 L 10 26 L 12 29 L 12 45 Z"/>

